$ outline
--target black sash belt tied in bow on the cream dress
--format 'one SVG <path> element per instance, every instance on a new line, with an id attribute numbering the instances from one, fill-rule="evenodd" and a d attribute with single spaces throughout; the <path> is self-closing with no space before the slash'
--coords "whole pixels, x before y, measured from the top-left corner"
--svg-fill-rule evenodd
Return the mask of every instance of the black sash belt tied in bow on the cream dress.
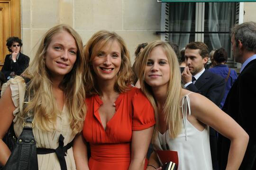
<path id="1" fill-rule="evenodd" d="M 67 150 L 72 147 L 72 142 L 63 146 L 64 145 L 63 141 L 64 141 L 64 137 L 61 134 L 59 137 L 59 146 L 57 147 L 57 149 L 37 148 L 37 154 L 56 153 L 57 158 L 60 162 L 61 170 L 67 170 L 67 165 L 66 165 L 64 156 L 66 156 Z"/>

